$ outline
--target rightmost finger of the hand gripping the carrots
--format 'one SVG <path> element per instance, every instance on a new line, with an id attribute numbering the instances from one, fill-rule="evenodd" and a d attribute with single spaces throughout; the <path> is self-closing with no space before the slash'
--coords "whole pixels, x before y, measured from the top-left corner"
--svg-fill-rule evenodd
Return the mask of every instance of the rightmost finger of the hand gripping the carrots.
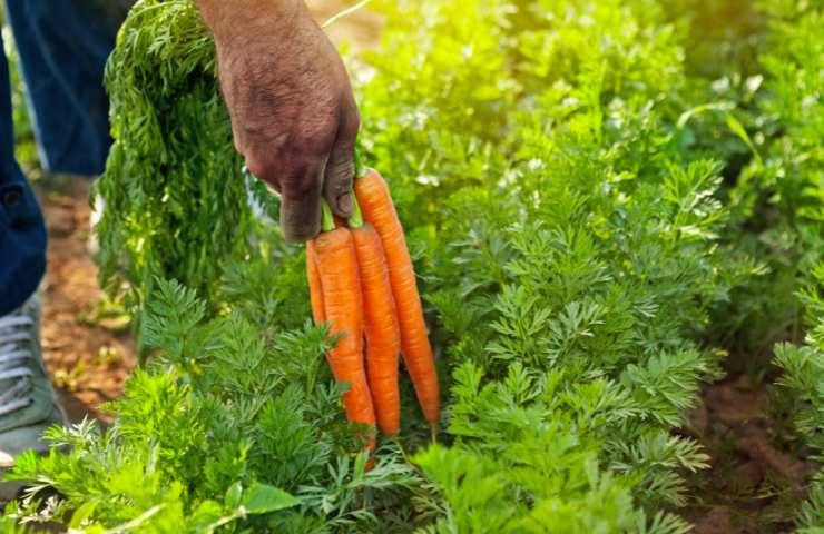
<path id="1" fill-rule="evenodd" d="M 354 100 L 346 99 L 324 176 L 323 196 L 339 217 L 352 216 L 352 179 L 355 176 L 355 139 L 361 126 Z"/>

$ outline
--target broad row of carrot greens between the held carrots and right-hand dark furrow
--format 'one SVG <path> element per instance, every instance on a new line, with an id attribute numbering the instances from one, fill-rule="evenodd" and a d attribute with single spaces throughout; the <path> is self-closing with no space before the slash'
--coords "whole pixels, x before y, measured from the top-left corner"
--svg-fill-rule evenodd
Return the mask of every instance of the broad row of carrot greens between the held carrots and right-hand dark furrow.
<path id="1" fill-rule="evenodd" d="M 458 48 L 460 32 L 433 32 L 438 46 L 414 48 L 413 63 L 445 69 L 460 98 L 440 101 L 438 88 L 416 82 L 392 85 L 390 100 L 375 87 L 385 85 L 381 76 L 362 88 L 366 112 L 384 106 L 385 123 L 414 115 L 398 102 L 451 120 L 449 142 L 431 125 L 425 148 L 414 135 L 363 142 L 367 158 L 391 169 L 399 201 L 438 202 L 460 186 L 418 234 L 419 271 L 452 369 L 453 443 L 414 458 L 445 501 L 432 530 L 685 532 L 674 516 L 648 511 L 684 504 L 678 473 L 704 467 L 706 456 L 668 429 L 683 424 L 700 382 L 718 376 L 716 354 L 695 335 L 756 265 L 717 245 L 727 220 L 715 197 L 720 167 L 683 150 L 673 123 L 680 110 L 665 98 L 685 87 L 683 52 L 660 10 L 651 2 L 518 8 L 507 12 L 534 14 L 534 28 L 510 50 L 499 40 L 506 70 L 497 76 L 512 89 L 497 101 L 506 111 L 484 122 L 503 129 L 465 127 L 454 109 L 496 109 L 490 93 L 473 92 L 483 83 L 473 77 L 485 71 L 471 57 L 443 53 Z M 459 8 L 404 12 L 401 24 L 449 20 L 451 9 Z M 514 33 L 491 13 L 470 18 L 481 27 L 474 31 Z M 388 46 L 399 46 L 392 38 Z M 425 78 L 390 69 L 390 79 Z M 389 136 L 381 130 L 379 139 Z M 432 170 L 404 166 L 418 154 L 490 142 L 497 152 L 480 175 L 478 161 L 462 158 L 483 151 L 433 156 L 424 161 Z M 438 182 L 422 179 L 429 174 Z"/>

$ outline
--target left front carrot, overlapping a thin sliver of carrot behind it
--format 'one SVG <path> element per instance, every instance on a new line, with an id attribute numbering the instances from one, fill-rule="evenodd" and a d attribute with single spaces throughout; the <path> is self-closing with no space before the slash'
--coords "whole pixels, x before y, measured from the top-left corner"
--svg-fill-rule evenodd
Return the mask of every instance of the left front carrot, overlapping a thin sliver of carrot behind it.
<path id="1" fill-rule="evenodd" d="M 331 335 L 341 335 L 337 345 L 326 354 L 335 380 L 347 382 L 350 389 L 343 395 L 346 417 L 371 428 L 375 426 L 363 365 L 363 308 L 361 279 L 357 271 L 352 233 L 346 228 L 334 228 L 334 222 L 324 206 L 324 233 L 314 239 L 315 263 L 321 279 L 323 308 Z M 369 449 L 374 449 L 374 437 Z"/>

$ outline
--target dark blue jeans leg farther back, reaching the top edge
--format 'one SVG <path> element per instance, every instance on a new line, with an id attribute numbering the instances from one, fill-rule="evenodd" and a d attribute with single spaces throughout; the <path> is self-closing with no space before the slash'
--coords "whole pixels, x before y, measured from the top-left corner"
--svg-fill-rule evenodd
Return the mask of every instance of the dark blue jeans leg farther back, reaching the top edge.
<path id="1" fill-rule="evenodd" d="M 122 17 L 110 4 L 6 0 L 47 170 L 91 176 L 105 168 L 111 138 L 102 79 Z"/>

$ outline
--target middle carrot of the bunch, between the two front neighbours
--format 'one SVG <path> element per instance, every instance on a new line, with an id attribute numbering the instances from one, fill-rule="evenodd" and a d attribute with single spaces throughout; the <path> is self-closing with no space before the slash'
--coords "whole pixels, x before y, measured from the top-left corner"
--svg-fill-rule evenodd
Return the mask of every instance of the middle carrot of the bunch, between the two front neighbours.
<path id="1" fill-rule="evenodd" d="M 384 434 L 396 434 L 401 429 L 401 396 L 398 390 L 401 334 L 386 258 L 381 237 L 372 225 L 363 222 L 357 202 L 350 226 L 363 291 L 369 388 L 372 392 L 379 428 Z"/>

